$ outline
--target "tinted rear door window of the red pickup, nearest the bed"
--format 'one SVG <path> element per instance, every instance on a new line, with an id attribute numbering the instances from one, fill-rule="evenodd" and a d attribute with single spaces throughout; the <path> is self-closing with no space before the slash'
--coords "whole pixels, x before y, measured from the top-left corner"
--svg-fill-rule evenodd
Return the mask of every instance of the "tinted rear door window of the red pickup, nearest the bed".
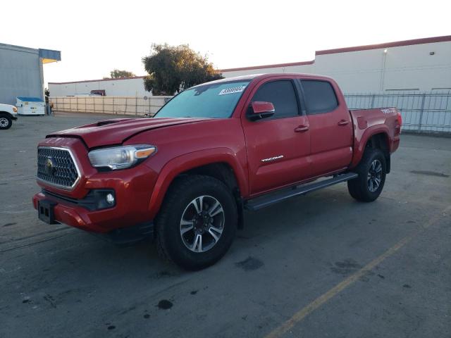
<path id="1" fill-rule="evenodd" d="M 328 113 L 338 107 L 337 96 L 328 81 L 302 80 L 308 114 Z"/>

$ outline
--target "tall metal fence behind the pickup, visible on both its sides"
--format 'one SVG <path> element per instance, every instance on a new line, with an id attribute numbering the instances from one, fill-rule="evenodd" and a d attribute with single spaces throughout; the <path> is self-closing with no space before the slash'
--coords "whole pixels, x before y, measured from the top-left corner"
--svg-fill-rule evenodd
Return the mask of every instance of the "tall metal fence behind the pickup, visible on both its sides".
<path id="1" fill-rule="evenodd" d="M 54 111 L 153 116 L 172 96 L 58 96 Z M 350 109 L 396 107 L 402 129 L 451 134 L 451 91 L 345 94 Z"/>

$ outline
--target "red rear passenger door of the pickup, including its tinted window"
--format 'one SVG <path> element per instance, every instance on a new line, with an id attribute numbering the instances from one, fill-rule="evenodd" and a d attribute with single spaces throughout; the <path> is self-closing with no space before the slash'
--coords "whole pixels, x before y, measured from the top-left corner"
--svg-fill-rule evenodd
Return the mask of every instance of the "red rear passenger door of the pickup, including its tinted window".
<path id="1" fill-rule="evenodd" d="M 310 125 L 314 176 L 347 168 L 352 160 L 352 120 L 335 82 L 302 79 Z"/>

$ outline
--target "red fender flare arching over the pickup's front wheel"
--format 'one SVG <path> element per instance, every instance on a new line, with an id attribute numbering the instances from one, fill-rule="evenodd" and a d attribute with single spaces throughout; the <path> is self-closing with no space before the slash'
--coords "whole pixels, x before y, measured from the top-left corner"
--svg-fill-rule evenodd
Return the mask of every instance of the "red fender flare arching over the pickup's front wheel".
<path id="1" fill-rule="evenodd" d="M 187 170 L 212 163 L 226 163 L 230 165 L 233 169 L 233 173 L 235 174 L 241 194 L 243 196 L 247 196 L 247 175 L 245 170 L 242 168 L 242 165 L 238 162 L 235 152 L 228 148 L 213 148 L 194 151 L 192 153 L 173 158 L 161 169 L 149 201 L 149 212 L 151 214 L 151 218 L 155 218 L 158 213 L 161 204 L 163 203 L 164 196 L 166 196 L 166 192 L 175 177 Z"/>

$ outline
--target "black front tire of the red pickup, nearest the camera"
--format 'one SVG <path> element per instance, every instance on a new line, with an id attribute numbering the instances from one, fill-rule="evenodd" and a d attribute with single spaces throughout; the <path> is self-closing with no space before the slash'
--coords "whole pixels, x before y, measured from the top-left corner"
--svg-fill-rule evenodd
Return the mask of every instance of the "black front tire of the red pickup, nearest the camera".
<path id="1" fill-rule="evenodd" d="M 200 196 L 204 196 L 203 202 L 200 200 Z M 202 223 L 206 221 L 199 216 L 196 211 L 197 208 L 194 209 L 194 204 L 200 205 L 201 210 L 204 210 L 203 212 L 209 213 L 213 209 L 215 199 L 220 203 L 219 208 L 222 207 L 223 210 L 210 220 L 210 222 L 214 222 L 213 218 L 216 218 L 216 221 L 222 224 L 222 232 L 217 241 L 214 241 L 211 232 L 206 230 L 206 227 L 211 224 L 205 225 Z M 197 203 L 194 201 L 197 201 Z M 192 218 L 194 220 L 193 228 L 186 234 L 182 234 L 182 220 L 192 222 L 191 217 L 186 216 L 190 212 L 194 215 Z M 214 211 L 211 211 L 209 214 L 213 213 Z M 218 220 L 218 217 L 221 219 Z M 191 225 L 187 225 L 187 227 L 191 227 Z M 199 230 L 200 228 L 203 230 Z M 156 217 L 156 243 L 160 256 L 187 270 L 200 270 L 221 259 L 230 248 L 236 230 L 237 205 L 230 189 L 223 182 L 203 175 L 187 175 L 175 180 L 168 189 L 159 215 Z M 199 231 L 204 231 L 202 233 L 202 244 L 208 243 L 209 239 L 211 240 L 209 243 L 213 245 L 211 249 L 204 252 L 192 251 L 193 247 L 194 250 L 199 249 L 196 246 L 196 236 L 199 236 L 197 233 Z M 193 246 L 190 249 L 188 242 L 190 242 L 191 235 Z M 208 245 L 202 249 L 206 249 L 206 247 Z"/>

